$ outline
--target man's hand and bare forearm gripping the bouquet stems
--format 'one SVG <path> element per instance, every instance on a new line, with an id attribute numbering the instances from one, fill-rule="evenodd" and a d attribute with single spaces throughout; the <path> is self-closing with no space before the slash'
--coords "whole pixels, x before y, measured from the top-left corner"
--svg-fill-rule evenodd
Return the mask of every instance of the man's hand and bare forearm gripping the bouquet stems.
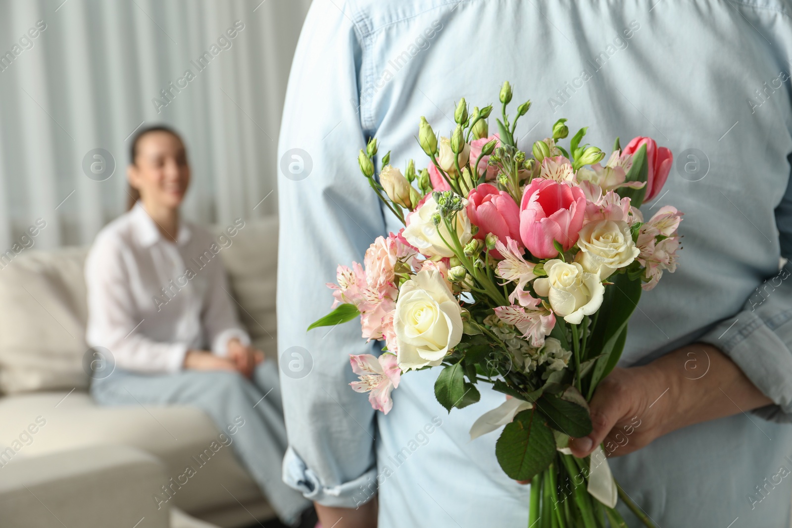
<path id="1" fill-rule="evenodd" d="M 569 447 L 583 458 L 604 442 L 609 456 L 620 456 L 681 427 L 771 403 L 722 351 L 695 343 L 642 367 L 615 368 L 589 403 L 594 430 Z"/>

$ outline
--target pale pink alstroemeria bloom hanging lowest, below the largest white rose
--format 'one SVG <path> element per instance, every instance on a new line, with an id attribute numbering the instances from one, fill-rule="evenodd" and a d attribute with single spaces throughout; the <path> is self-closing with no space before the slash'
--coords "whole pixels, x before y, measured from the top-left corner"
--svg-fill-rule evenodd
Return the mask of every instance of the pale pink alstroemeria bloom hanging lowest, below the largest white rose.
<path id="1" fill-rule="evenodd" d="M 349 355 L 352 371 L 360 376 L 359 382 L 349 385 L 358 393 L 368 393 L 371 407 L 385 414 L 393 408 L 390 391 L 398 387 L 402 371 L 396 365 L 396 356 L 387 352 L 375 358 L 371 354 Z"/>

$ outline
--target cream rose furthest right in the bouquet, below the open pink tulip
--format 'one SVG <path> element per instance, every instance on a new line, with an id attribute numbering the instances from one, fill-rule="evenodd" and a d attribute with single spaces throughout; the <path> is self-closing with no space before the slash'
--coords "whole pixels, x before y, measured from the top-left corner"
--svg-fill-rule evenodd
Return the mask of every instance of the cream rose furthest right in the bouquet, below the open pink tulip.
<path id="1" fill-rule="evenodd" d="M 598 273 L 600 279 L 607 279 L 617 269 L 629 266 L 641 253 L 635 247 L 627 222 L 613 220 L 600 220 L 584 226 L 577 247 L 581 253 L 575 260 L 585 271 Z"/>

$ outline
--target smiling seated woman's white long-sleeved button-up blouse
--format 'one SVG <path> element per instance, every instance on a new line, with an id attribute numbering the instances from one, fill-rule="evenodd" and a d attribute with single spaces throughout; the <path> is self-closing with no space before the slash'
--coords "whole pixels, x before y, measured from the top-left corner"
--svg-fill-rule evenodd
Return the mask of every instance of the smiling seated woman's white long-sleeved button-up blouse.
<path id="1" fill-rule="evenodd" d="M 137 203 L 101 230 L 86 260 L 88 344 L 107 348 L 117 368 L 150 374 L 181 370 L 189 349 L 225 355 L 233 338 L 249 344 L 222 249 L 187 222 L 167 241 Z"/>

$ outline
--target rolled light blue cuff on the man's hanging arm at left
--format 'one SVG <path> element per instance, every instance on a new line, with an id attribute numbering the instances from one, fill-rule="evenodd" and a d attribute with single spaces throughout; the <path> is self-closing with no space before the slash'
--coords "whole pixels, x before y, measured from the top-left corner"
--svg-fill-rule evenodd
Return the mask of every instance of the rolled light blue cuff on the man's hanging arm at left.
<path id="1" fill-rule="evenodd" d="M 376 468 L 369 469 L 352 481 L 326 487 L 291 446 L 284 456 L 283 471 L 286 484 L 302 492 L 306 499 L 323 506 L 356 508 L 367 503 L 377 494 Z"/>

